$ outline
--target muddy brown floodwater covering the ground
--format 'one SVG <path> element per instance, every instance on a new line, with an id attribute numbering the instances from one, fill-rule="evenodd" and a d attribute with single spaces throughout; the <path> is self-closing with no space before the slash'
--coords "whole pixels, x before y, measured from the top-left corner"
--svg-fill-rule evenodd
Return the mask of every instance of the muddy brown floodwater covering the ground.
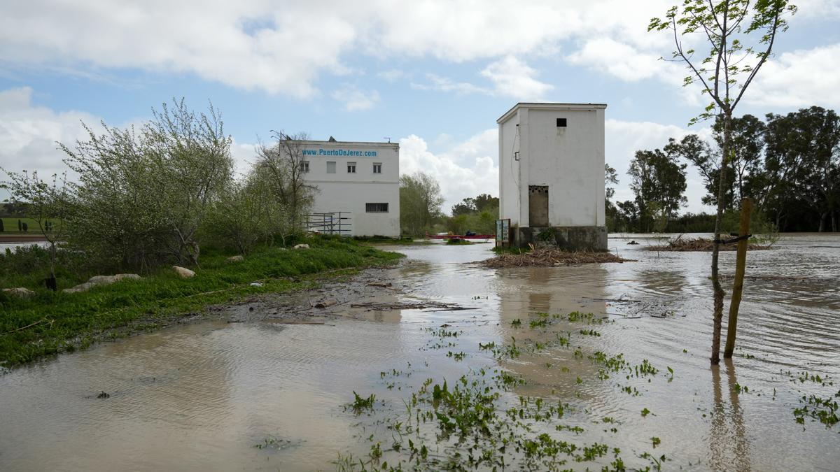
<path id="1" fill-rule="evenodd" d="M 339 453 L 364 456 L 366 438 L 381 433 L 373 420 L 344 411 L 353 391 L 402 405 L 426 378 L 457 379 L 481 366 L 528 380 L 509 401 L 529 395 L 580 405 L 571 421 L 585 433 L 554 436 L 621 448 L 629 467 L 649 464 L 638 455 L 650 451 L 670 459 L 663 469 L 840 469 L 840 424 L 806 419 L 803 428 L 793 415 L 801 396 L 840 389 L 840 236 L 785 236 L 778 249 L 748 255 L 753 278 L 738 349 L 720 369 L 708 363 L 709 254 L 658 254 L 644 244 L 655 240 L 610 239 L 633 263 L 501 270 L 464 264 L 489 257 L 488 244 L 400 247 L 409 260 L 381 275 L 402 287 L 397 300 L 476 309 L 357 309 L 323 325 L 206 321 L 13 370 L 0 376 L 0 469 L 334 469 Z M 722 254 L 724 274 L 734 271 L 734 256 Z M 622 381 L 598 380 L 573 349 L 504 361 L 478 349 L 548 336 L 528 329 L 529 313 L 575 310 L 615 322 L 586 327 L 601 336 L 573 335 L 574 348 L 659 368 L 650 383 L 633 384 L 638 396 L 622 391 Z M 517 318 L 523 327 L 512 327 Z M 427 328 L 443 323 L 463 334 L 456 347 L 430 349 L 437 338 Z M 447 357 L 452 350 L 465 359 Z M 395 369 L 412 375 L 381 378 Z M 802 371 L 834 385 L 796 380 Z M 736 384 L 748 392 L 738 394 Z M 101 391 L 110 396 L 97 398 Z M 652 414 L 642 417 L 643 408 Z M 614 418 L 617 432 L 596 424 L 602 417 Z M 655 450 L 652 437 L 661 439 Z"/>

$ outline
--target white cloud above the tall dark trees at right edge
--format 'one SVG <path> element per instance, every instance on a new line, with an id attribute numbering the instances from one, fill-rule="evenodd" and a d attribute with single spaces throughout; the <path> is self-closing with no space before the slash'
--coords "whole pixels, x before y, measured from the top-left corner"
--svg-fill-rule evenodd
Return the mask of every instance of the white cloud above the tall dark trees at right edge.
<path id="1" fill-rule="evenodd" d="M 780 108 L 840 107 L 838 63 L 840 44 L 786 52 L 767 61 L 744 100 Z"/>

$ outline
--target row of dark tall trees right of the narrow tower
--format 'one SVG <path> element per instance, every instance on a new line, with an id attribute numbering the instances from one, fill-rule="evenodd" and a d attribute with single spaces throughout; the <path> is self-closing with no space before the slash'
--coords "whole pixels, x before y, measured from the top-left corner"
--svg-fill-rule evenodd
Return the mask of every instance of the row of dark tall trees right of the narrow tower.
<path id="1" fill-rule="evenodd" d="M 627 176 L 633 200 L 613 202 L 615 169 L 605 166 L 606 222 L 613 232 L 708 232 L 715 215 L 680 215 L 685 170 L 699 171 L 706 195 L 717 206 L 723 121 L 711 127 L 711 141 L 697 134 L 671 138 L 661 149 L 637 150 Z M 732 152 L 724 186 L 724 225 L 733 228 L 743 198 L 752 198 L 753 228 L 800 232 L 840 230 L 840 117 L 821 107 L 762 120 L 746 114 L 732 118 Z"/>

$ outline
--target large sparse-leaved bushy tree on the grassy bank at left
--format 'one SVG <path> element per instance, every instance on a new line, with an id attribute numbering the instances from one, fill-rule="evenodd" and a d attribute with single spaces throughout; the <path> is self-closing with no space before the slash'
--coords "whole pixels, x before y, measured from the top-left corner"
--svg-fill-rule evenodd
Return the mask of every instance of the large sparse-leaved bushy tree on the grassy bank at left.
<path id="1" fill-rule="evenodd" d="M 68 241 L 102 269 L 150 270 L 197 263 L 197 230 L 233 173 L 218 111 L 192 113 L 183 100 L 139 130 L 102 123 L 100 135 L 65 144 L 74 212 Z"/>

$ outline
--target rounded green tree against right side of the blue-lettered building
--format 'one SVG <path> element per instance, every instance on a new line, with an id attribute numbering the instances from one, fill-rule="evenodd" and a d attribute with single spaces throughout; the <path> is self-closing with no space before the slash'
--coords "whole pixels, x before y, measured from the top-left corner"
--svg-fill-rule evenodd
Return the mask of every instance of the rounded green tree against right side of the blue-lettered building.
<path id="1" fill-rule="evenodd" d="M 428 231 L 443 204 L 440 184 L 433 176 L 421 171 L 400 176 L 400 226 L 404 233 L 417 236 Z"/>

